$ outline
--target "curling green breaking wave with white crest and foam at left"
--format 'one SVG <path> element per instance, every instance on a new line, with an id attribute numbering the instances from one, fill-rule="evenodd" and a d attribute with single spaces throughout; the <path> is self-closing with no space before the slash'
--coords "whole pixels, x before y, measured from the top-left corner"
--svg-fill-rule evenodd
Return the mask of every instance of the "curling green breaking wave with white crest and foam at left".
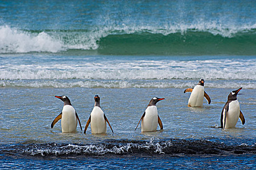
<path id="1" fill-rule="evenodd" d="M 20 30 L 0 26 L 0 53 L 114 55 L 255 55 L 256 24 L 220 27 L 214 23 L 117 26 L 93 30 Z"/>

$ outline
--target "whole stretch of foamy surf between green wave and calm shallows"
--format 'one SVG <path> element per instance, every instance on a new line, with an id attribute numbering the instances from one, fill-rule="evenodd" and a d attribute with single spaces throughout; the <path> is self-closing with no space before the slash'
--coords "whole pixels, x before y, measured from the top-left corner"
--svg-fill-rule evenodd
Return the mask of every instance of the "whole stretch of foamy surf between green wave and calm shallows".
<path id="1" fill-rule="evenodd" d="M 32 56 L 33 57 L 33 56 Z M 40 61 L 40 56 L 33 57 Z M 201 78 L 212 88 L 256 88 L 255 59 L 139 60 L 102 57 L 44 58 L 40 64 L 2 58 L 0 86 L 87 88 L 184 88 Z M 22 57 L 21 57 L 22 59 Z M 69 64 L 66 64 L 66 62 Z M 78 61 L 78 62 L 77 62 Z M 36 63 L 36 62 L 35 62 Z M 224 82 L 224 83 L 219 83 Z"/>

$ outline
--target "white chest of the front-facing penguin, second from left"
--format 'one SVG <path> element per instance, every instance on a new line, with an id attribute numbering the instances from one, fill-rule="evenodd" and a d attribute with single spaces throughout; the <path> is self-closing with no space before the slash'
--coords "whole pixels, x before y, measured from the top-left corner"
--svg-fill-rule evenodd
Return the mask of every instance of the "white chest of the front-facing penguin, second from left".
<path id="1" fill-rule="evenodd" d="M 91 112 L 91 130 L 92 134 L 101 134 L 107 132 L 104 112 L 98 106 L 95 106 Z"/>

